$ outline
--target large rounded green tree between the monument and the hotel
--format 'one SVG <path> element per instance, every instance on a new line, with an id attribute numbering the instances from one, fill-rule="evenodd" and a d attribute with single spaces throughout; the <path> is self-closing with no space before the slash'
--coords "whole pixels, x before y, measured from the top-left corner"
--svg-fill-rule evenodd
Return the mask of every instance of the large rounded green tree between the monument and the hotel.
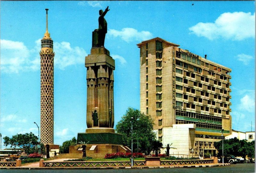
<path id="1" fill-rule="evenodd" d="M 133 137 L 131 133 L 131 118 L 133 120 Z M 139 144 L 139 151 L 141 153 L 150 153 L 151 145 L 156 134 L 153 132 L 154 122 L 148 115 L 142 114 L 139 110 L 129 107 L 122 119 L 117 122 L 116 132 L 123 135 L 124 145 L 131 148 L 131 141 L 133 138 L 133 146 Z M 138 139 L 138 144 L 137 140 Z M 133 147 L 135 151 L 135 147 Z M 137 149 L 136 149 L 137 150 Z"/>

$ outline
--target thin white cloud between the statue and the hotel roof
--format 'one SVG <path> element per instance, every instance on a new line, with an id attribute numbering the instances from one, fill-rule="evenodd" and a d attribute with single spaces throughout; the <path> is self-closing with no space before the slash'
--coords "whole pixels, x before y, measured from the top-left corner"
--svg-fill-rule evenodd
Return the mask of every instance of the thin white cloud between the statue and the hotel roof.
<path id="1" fill-rule="evenodd" d="M 115 29 L 108 30 L 108 36 L 121 37 L 122 40 L 129 43 L 132 41 L 143 41 L 153 37 L 153 34 L 149 31 L 138 31 L 134 28 L 123 28 L 121 31 Z"/>

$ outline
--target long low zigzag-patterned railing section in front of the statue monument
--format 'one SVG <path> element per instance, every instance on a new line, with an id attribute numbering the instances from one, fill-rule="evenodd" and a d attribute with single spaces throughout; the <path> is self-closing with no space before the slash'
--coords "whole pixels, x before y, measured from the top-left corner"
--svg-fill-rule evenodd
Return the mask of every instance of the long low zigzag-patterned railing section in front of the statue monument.
<path id="1" fill-rule="evenodd" d="M 41 161 L 40 167 L 130 167 L 131 161 Z M 145 166 L 146 161 L 134 161 L 134 166 Z"/>

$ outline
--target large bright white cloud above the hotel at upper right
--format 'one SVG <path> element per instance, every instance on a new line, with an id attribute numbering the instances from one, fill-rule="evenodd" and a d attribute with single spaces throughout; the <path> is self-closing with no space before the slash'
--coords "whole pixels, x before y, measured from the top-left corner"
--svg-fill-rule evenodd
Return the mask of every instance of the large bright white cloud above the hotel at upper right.
<path id="1" fill-rule="evenodd" d="M 204 36 L 210 40 L 226 38 L 243 40 L 255 37 L 255 13 L 225 12 L 214 23 L 197 23 L 189 28 L 193 34 Z"/>

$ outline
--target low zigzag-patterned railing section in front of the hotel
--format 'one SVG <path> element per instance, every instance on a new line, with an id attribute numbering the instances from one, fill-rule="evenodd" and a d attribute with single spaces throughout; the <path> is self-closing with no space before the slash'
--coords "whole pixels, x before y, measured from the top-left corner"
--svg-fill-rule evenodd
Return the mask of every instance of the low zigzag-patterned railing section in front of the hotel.
<path id="1" fill-rule="evenodd" d="M 193 159 L 193 160 L 161 160 L 160 165 L 193 165 L 213 163 L 213 159 Z"/>

